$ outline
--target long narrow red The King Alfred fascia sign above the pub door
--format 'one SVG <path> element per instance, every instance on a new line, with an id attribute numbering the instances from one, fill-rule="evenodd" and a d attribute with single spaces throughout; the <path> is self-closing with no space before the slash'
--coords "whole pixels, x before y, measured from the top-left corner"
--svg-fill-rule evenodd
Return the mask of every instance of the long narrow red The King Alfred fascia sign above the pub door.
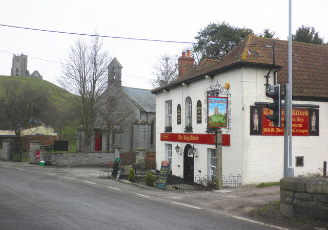
<path id="1" fill-rule="evenodd" d="M 161 141 L 215 145 L 215 134 L 161 133 Z M 222 145 L 230 146 L 230 134 L 222 134 Z"/>

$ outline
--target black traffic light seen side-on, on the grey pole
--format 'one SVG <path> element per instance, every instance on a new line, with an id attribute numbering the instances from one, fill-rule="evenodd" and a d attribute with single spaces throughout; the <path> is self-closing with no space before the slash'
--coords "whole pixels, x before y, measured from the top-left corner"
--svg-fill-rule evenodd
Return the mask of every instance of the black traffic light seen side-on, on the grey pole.
<path id="1" fill-rule="evenodd" d="M 273 99 L 273 103 L 267 103 L 267 107 L 273 110 L 271 115 L 265 116 L 274 123 L 274 126 L 281 126 L 281 87 L 273 86 L 273 91 L 267 91 L 267 96 Z"/>

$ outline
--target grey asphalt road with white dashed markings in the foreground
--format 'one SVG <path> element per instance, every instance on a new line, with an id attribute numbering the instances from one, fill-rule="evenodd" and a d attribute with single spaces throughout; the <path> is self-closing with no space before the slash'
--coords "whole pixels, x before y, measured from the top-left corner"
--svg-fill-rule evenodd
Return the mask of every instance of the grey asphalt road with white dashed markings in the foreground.
<path id="1" fill-rule="evenodd" d="M 67 168 L 2 163 L 0 229 L 273 229 L 171 195 Z"/>

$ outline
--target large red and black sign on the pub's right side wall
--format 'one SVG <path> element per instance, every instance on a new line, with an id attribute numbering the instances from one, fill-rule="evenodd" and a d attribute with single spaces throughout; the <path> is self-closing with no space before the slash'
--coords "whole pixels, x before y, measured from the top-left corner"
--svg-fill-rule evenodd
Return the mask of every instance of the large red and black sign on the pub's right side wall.
<path id="1" fill-rule="evenodd" d="M 272 114 L 272 110 L 264 106 L 251 106 L 250 134 L 263 136 L 281 136 L 284 132 L 284 108 L 281 109 L 281 127 L 272 126 L 272 122 L 265 116 Z M 293 136 L 319 135 L 319 109 L 292 109 Z"/>

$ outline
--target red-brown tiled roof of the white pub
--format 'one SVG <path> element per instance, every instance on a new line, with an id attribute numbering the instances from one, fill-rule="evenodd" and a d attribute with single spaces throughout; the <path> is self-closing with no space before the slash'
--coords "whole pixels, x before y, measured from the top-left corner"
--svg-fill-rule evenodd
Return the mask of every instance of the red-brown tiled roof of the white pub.
<path id="1" fill-rule="evenodd" d="M 275 46 L 275 63 L 273 62 Z M 293 42 L 293 97 L 328 99 L 328 47 L 324 45 Z M 250 35 L 221 60 L 205 59 L 190 72 L 175 81 L 155 88 L 152 93 L 169 89 L 182 82 L 194 81 L 205 75 L 240 65 L 282 67 L 277 72 L 278 84 L 288 83 L 288 41 Z"/>

